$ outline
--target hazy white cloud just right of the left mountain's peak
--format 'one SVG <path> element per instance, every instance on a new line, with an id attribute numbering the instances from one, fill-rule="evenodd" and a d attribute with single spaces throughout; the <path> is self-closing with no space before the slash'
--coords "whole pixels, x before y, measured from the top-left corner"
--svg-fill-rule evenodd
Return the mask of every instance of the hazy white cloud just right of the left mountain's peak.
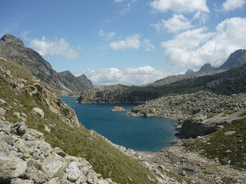
<path id="1" fill-rule="evenodd" d="M 22 36 L 30 42 L 29 47 L 36 50 L 40 55 L 57 55 L 63 56 L 66 59 L 77 59 L 78 51 L 75 50 L 69 43 L 64 39 L 60 38 L 59 40 L 50 41 L 42 37 L 42 39 L 30 39 L 26 36 L 27 32 L 22 33 Z"/>

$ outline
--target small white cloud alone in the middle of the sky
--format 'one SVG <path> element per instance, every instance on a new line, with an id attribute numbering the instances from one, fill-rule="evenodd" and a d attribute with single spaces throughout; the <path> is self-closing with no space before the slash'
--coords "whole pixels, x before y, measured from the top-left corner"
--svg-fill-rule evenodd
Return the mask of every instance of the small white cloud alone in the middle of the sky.
<path id="1" fill-rule="evenodd" d="M 117 42 L 111 42 L 109 46 L 114 50 L 125 50 L 125 49 L 139 49 L 141 45 L 140 35 L 132 35 L 127 37 L 125 40 Z"/>

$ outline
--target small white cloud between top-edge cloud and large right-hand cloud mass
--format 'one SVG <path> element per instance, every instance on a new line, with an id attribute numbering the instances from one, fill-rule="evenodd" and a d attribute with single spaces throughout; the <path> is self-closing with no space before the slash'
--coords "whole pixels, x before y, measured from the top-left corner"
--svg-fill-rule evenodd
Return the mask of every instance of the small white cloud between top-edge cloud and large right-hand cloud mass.
<path id="1" fill-rule="evenodd" d="M 188 21 L 182 14 L 174 14 L 171 19 L 162 20 L 157 24 L 152 24 L 158 33 L 168 30 L 170 32 L 178 32 L 192 27 L 191 22 Z"/>

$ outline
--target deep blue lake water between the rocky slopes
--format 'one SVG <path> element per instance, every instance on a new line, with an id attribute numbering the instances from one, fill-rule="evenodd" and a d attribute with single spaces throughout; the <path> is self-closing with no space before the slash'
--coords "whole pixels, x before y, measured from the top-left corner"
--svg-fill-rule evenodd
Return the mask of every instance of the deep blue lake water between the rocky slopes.
<path id="1" fill-rule="evenodd" d="M 61 97 L 73 108 L 79 121 L 89 130 L 95 130 L 115 144 L 135 151 L 157 152 L 171 146 L 178 139 L 174 133 L 176 121 L 164 118 L 128 116 L 126 112 L 111 112 L 116 104 L 78 104 L 76 97 Z M 129 110 L 136 106 L 120 104 Z"/>

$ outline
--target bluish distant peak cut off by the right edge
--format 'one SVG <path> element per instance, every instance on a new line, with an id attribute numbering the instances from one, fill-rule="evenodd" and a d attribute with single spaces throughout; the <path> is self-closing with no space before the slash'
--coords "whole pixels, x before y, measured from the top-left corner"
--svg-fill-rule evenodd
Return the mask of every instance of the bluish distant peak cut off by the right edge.
<path id="1" fill-rule="evenodd" d="M 239 49 L 233 52 L 226 62 L 219 67 L 222 70 L 230 70 L 232 68 L 237 68 L 246 63 L 246 50 Z"/>

